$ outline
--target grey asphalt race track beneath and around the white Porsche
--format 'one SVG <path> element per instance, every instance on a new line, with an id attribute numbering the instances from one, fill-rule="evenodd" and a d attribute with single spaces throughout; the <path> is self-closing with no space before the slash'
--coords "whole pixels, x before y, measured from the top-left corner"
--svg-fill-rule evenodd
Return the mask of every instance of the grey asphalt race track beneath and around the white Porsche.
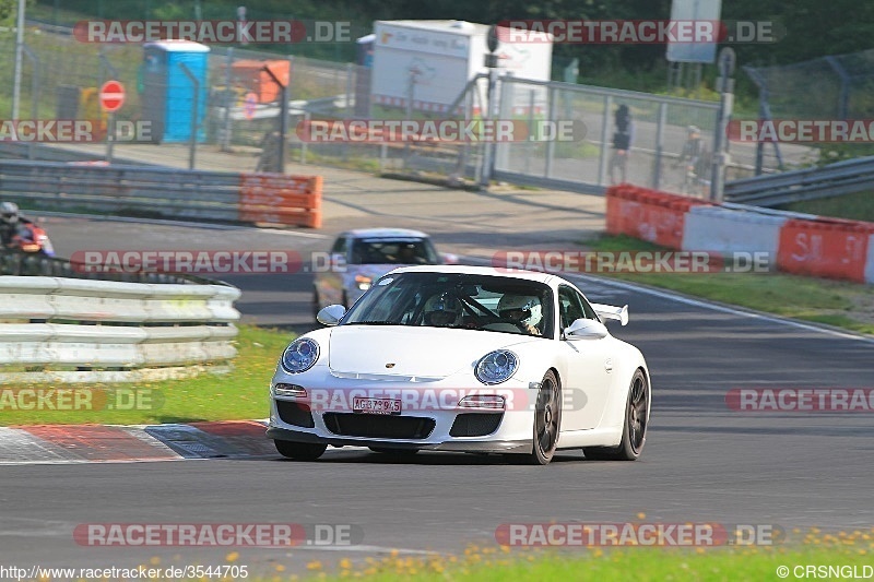
<path id="1" fill-rule="evenodd" d="M 93 245 L 85 219 L 55 219 L 59 248 Z M 103 223 L 130 248 L 228 245 L 323 250 L 327 238 L 252 229 Z M 257 240 L 252 241 L 252 237 Z M 248 242 L 247 242 L 248 241 Z M 149 244 L 152 244 L 151 246 Z M 162 247 L 160 244 L 163 244 Z M 285 247 L 283 247 L 285 246 Z M 227 277 L 248 321 L 296 331 L 310 321 L 309 275 Z M 498 458 L 420 453 L 395 462 L 333 449 L 318 462 L 271 459 L 0 467 L 0 555 L 20 566 L 224 562 L 228 548 L 82 547 L 82 523 L 349 524 L 350 547 L 243 548 L 238 565 L 306 571 L 309 560 L 460 551 L 495 544 L 505 523 L 557 521 L 775 524 L 870 528 L 874 464 L 869 413 L 742 413 L 734 388 L 872 388 L 874 341 L 580 277 L 589 298 L 629 304 L 611 331 L 641 348 L 653 381 L 647 449 L 635 463 L 562 452 L 546 467 Z M 791 298 L 788 298 L 791 300 Z M 264 378 L 264 383 L 269 380 Z M 267 414 L 267 413 L 265 413 Z"/>

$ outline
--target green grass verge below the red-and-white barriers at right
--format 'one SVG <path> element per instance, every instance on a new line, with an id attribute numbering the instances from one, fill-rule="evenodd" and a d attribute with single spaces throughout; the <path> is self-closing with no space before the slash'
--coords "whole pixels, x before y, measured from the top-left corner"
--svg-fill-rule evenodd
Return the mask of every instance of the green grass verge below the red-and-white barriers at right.
<path id="1" fill-rule="evenodd" d="M 582 241 L 594 251 L 664 251 L 645 240 L 604 235 Z M 788 273 L 599 273 L 778 316 L 874 334 L 874 289 Z"/>

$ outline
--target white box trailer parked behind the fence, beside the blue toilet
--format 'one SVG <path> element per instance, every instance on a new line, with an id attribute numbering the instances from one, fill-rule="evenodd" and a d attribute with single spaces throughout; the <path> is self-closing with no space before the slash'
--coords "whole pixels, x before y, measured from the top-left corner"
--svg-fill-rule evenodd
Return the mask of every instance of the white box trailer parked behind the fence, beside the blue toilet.
<path id="1" fill-rule="evenodd" d="M 488 72 L 488 28 L 462 21 L 377 21 L 371 103 L 405 108 L 412 95 L 414 110 L 448 112 L 468 82 Z M 499 37 L 509 39 L 510 35 Z M 513 31 L 512 37 L 519 40 L 501 40 L 495 51 L 499 74 L 550 81 L 552 37 L 522 31 Z M 545 95 L 545 91 L 542 93 Z M 515 109 L 528 108 L 530 96 L 519 95 L 518 100 L 512 104 Z M 538 108 L 542 105 L 539 103 Z"/>

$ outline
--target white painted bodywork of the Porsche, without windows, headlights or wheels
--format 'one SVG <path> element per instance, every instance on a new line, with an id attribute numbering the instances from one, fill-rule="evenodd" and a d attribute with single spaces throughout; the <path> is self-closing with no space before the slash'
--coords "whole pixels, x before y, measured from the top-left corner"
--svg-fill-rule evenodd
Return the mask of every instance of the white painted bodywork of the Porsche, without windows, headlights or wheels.
<path id="1" fill-rule="evenodd" d="M 553 289 L 554 297 L 557 297 L 559 284 L 570 286 L 582 296 L 566 280 L 544 273 L 459 265 L 401 268 L 395 273 L 415 271 L 519 277 L 545 283 Z M 627 322 L 627 306 L 599 305 L 599 311 L 606 311 L 615 319 L 624 320 L 623 323 Z M 553 312 L 557 323 L 558 309 L 554 308 Z M 483 330 L 404 325 L 341 324 L 319 329 L 305 334 L 320 346 L 318 361 L 300 373 L 288 373 L 277 366 L 271 391 L 276 383 L 288 383 L 308 390 L 339 391 L 350 397 L 362 390 L 391 390 L 399 393 L 418 391 L 420 394 L 429 390 L 476 390 L 481 394 L 500 394 L 501 391 L 520 391 L 515 394 L 524 394 L 527 391 L 535 396 L 544 373 L 553 369 L 564 392 L 572 395 L 575 391 L 582 391 L 586 395 L 583 406 L 575 409 L 570 403 L 563 407 L 557 448 L 617 446 L 623 436 L 629 384 L 637 369 L 642 369 L 650 382 L 651 399 L 651 381 L 643 356 L 636 347 L 612 335 L 560 338 L 557 324 L 555 330 L 554 337 L 536 337 Z M 480 358 L 498 348 L 513 352 L 518 356 L 519 367 L 505 382 L 485 385 L 475 377 L 474 367 Z M 453 437 L 449 433 L 457 415 L 494 414 L 495 411 L 459 408 L 457 403 L 445 403 L 436 409 L 404 411 L 402 416 L 433 418 L 434 429 L 425 438 L 390 439 L 338 435 L 329 430 L 323 415 L 315 409 L 311 414 L 315 426 L 311 428 L 283 421 L 276 402 L 296 400 L 299 399 L 271 394 L 271 438 L 279 436 L 286 440 L 302 439 L 304 442 L 334 446 L 409 446 L 477 452 L 531 452 L 533 442 L 533 407 L 505 411 L 494 432 L 477 437 Z"/>

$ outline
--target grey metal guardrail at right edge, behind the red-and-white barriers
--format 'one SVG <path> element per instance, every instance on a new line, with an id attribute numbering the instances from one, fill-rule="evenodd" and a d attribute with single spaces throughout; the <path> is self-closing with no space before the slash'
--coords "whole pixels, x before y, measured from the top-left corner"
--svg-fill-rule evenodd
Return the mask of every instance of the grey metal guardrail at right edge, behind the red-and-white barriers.
<path id="1" fill-rule="evenodd" d="M 790 202 L 874 190 L 874 157 L 862 157 L 725 183 L 724 200 L 777 206 Z"/>

